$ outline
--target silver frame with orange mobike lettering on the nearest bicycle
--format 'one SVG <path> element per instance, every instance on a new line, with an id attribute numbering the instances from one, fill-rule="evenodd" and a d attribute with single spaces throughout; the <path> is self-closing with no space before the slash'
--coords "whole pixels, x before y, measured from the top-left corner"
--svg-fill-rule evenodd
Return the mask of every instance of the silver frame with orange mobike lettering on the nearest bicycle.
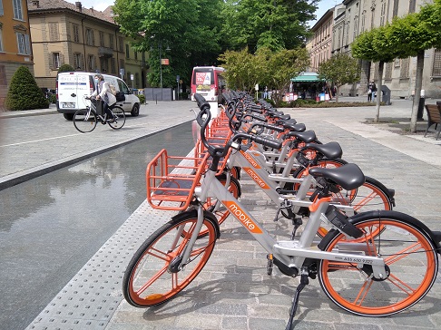
<path id="1" fill-rule="evenodd" d="M 383 258 L 363 255 L 364 251 L 372 248 L 367 242 L 350 242 L 347 247 L 344 248 L 346 251 L 345 253 L 322 251 L 319 250 L 316 245 L 313 245 L 321 220 L 324 217 L 326 209 L 328 209 L 330 198 L 317 199 L 314 202 L 299 201 L 302 205 L 308 205 L 311 211 L 309 221 L 307 222 L 301 236 L 299 239 L 276 241 L 270 236 L 270 233 L 263 228 L 260 222 L 240 204 L 240 201 L 235 199 L 230 194 L 230 191 L 216 179 L 215 171 L 208 170 L 206 172 L 201 182 L 201 187 L 197 187 L 194 190 L 194 193 L 200 201 L 200 204 L 196 206 L 198 209 L 198 221 L 196 230 L 192 233 L 190 244 L 183 251 L 182 260 L 184 261 L 182 261 L 180 267 L 184 267 L 188 260 L 190 260 L 192 245 L 198 237 L 198 228 L 201 228 L 203 223 L 203 201 L 209 196 L 212 196 L 219 199 L 225 208 L 230 210 L 230 214 L 248 230 L 253 238 L 255 238 L 262 248 L 264 248 L 270 255 L 285 266 L 297 269 L 293 276 L 299 274 L 298 270 L 302 267 L 306 258 L 353 262 L 354 264 L 357 264 L 358 267 L 362 267 L 366 264 L 373 268 L 374 277 L 384 278 L 386 276 L 386 268 Z M 352 251 L 352 253 L 350 251 Z"/>

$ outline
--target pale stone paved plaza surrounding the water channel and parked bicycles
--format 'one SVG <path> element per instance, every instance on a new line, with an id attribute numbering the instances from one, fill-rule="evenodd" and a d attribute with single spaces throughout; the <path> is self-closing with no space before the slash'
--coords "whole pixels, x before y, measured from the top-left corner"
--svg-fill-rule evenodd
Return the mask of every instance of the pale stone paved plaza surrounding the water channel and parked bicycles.
<path id="1" fill-rule="evenodd" d="M 141 113 L 145 115 L 138 119 L 129 116 L 126 126 L 112 139 L 107 126 L 92 134 L 52 126 L 44 130 L 43 124 L 42 130 L 32 131 L 30 119 L 47 122 L 55 116 L 47 114 L 50 110 L 45 115 L 23 117 L 15 129 L 8 127 L 3 114 L 0 189 L 191 121 L 191 108 L 196 108 L 195 103 L 143 105 Z M 423 136 L 420 130 L 426 129 L 426 121 L 418 122 L 417 134 L 406 134 L 410 101 L 392 100 L 392 105 L 381 107 L 383 123 L 379 124 L 370 123 L 374 106 L 283 111 L 316 131 L 320 141 L 338 141 L 343 159 L 357 163 L 366 175 L 396 189 L 398 211 L 441 230 L 441 140 L 435 141 L 433 131 Z M 290 232 L 288 221 L 273 222 L 274 205 L 246 175 L 242 175 L 240 185 L 241 201 L 254 216 L 263 219 L 270 233 Z M 222 224 L 221 237 L 207 266 L 180 295 L 149 309 L 132 307 L 123 300 L 122 276 L 127 263 L 142 242 L 172 215 L 143 202 L 27 329 L 284 329 L 299 278 L 282 276 L 277 269 L 268 276 L 266 252 L 233 218 Z M 437 278 L 417 306 L 390 317 L 368 318 L 339 309 L 323 294 L 318 281 L 311 280 L 300 296 L 295 329 L 440 329 L 440 292 L 441 278 Z"/>

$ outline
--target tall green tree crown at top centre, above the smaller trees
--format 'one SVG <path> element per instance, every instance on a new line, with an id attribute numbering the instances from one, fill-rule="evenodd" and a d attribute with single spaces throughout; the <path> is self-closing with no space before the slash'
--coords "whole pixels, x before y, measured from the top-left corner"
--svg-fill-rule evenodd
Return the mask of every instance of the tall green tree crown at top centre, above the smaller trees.
<path id="1" fill-rule="evenodd" d="M 318 0 L 227 0 L 222 40 L 230 49 L 294 49 L 309 35 Z"/>

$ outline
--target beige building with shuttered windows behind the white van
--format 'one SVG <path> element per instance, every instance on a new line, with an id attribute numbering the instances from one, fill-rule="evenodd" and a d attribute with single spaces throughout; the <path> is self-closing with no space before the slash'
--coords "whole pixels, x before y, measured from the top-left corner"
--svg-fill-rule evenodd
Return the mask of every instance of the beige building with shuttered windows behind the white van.
<path id="1" fill-rule="evenodd" d="M 58 68 L 64 63 L 77 71 L 122 76 L 129 86 L 133 74 L 142 83 L 141 61 L 133 65 L 130 47 L 127 56 L 127 42 L 110 8 L 100 12 L 84 8 L 81 2 L 28 0 L 28 11 L 34 75 L 40 87 L 54 89 Z"/>

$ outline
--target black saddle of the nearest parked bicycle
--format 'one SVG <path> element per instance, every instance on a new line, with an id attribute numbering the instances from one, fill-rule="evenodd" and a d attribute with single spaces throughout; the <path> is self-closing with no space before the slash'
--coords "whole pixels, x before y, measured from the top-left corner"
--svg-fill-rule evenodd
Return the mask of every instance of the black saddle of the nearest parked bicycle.
<path id="1" fill-rule="evenodd" d="M 309 174 L 331 180 L 347 190 L 357 189 L 365 183 L 365 175 L 356 164 L 346 164 L 334 169 L 314 167 L 309 169 Z"/>

